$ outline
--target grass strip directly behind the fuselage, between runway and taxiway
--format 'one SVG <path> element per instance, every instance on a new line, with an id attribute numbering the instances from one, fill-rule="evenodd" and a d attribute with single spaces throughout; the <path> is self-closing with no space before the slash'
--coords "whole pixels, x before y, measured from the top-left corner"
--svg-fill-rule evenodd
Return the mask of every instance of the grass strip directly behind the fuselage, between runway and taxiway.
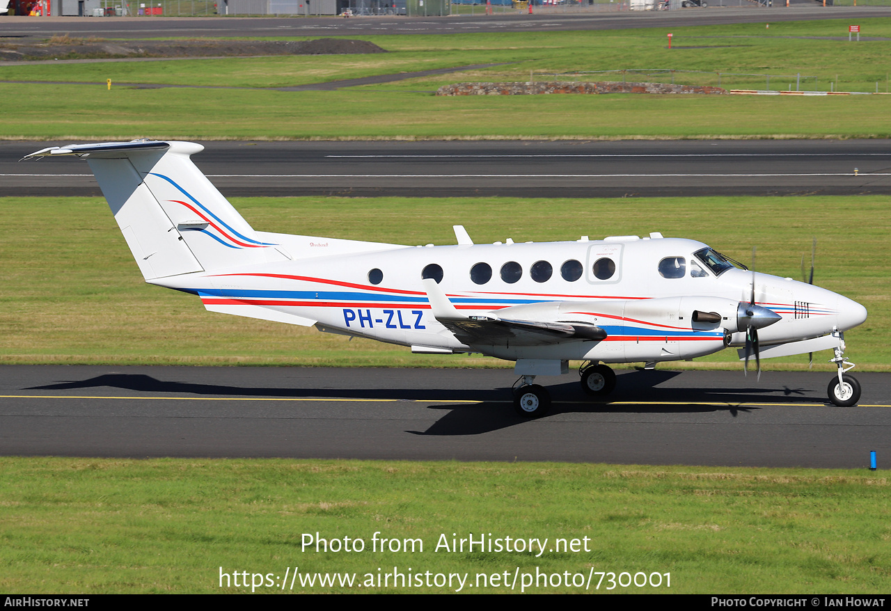
<path id="1" fill-rule="evenodd" d="M 660 231 L 705 241 L 741 261 L 748 261 L 752 246 L 757 246 L 759 271 L 794 278 L 800 278 L 801 256 L 810 257 L 815 236 L 816 283 L 854 298 L 870 313 L 864 325 L 846 334 L 848 355 L 861 370 L 888 371 L 891 363 L 887 196 L 257 198 L 233 199 L 233 204 L 258 230 L 410 245 L 454 243 L 453 224 L 465 224 L 478 243 Z M 581 209 L 596 209 L 596 220 L 580 225 Z M 509 364 L 482 357 L 410 354 L 407 348 L 371 340 L 347 341 L 314 329 L 208 313 L 195 297 L 143 281 L 108 207 L 99 199 L 6 198 L 0 199 L 0 210 L 0 363 Z M 543 210 L 547 214 L 541 214 Z M 728 224 L 728 215 L 736 216 L 732 211 L 739 210 L 757 222 Z M 533 217 L 536 223 L 528 224 Z M 817 369 L 829 367 L 822 363 L 822 354 L 815 358 Z M 736 369 L 740 363 L 735 352 L 723 351 L 671 366 Z M 767 360 L 764 366 L 806 367 L 806 356 Z"/>

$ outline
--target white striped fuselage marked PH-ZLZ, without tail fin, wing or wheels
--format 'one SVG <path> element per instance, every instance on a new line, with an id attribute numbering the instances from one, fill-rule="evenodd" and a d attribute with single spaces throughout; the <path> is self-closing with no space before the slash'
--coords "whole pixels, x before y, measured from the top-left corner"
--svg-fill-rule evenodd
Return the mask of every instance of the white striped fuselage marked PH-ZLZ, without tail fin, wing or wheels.
<path id="1" fill-rule="evenodd" d="M 350 252 L 338 254 L 334 240 L 262 235 L 292 258 L 152 282 L 194 292 L 208 309 L 229 314 L 315 323 L 319 330 L 419 352 L 472 351 L 509 360 L 672 361 L 740 346 L 745 329 L 737 323 L 737 308 L 748 303 L 753 278 L 756 304 L 781 316 L 759 331 L 763 345 L 816 338 L 866 318 L 862 305 L 803 282 L 735 267 L 715 273 L 695 255 L 708 248 L 696 240 L 363 243 L 368 245 L 363 251 L 344 248 Z M 462 342 L 431 311 L 421 282 L 429 265 L 441 270 L 438 287 L 463 315 L 584 323 L 605 330 L 607 338 Z M 696 322 L 697 311 L 720 314 L 722 320 Z"/>

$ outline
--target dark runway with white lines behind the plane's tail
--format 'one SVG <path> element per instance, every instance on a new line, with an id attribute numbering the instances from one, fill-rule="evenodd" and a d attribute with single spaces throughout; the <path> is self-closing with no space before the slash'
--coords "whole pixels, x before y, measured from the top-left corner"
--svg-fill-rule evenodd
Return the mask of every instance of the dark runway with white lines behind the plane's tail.
<path id="1" fill-rule="evenodd" d="M 59 143 L 0 142 L 0 195 L 100 196 Z M 227 196 L 634 197 L 891 193 L 887 140 L 204 143 Z"/>

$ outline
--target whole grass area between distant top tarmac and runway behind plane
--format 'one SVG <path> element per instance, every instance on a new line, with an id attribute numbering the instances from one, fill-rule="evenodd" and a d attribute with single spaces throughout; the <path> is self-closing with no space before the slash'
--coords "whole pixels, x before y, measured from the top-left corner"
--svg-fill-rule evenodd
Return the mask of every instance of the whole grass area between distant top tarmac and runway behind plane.
<path id="1" fill-rule="evenodd" d="M 690 70 L 675 82 L 724 87 L 888 89 L 891 23 L 826 20 L 673 29 L 363 37 L 390 53 L 225 60 L 99 62 L 4 67 L 4 79 L 84 81 L 85 85 L 0 84 L 16 111 L 0 118 L 4 138 L 693 138 L 887 137 L 885 96 L 788 99 L 748 96 L 538 95 L 433 97 L 462 81 L 575 78 L 567 72 Z M 827 40 L 825 37 L 841 37 Z M 437 77 L 333 92 L 256 90 L 401 71 L 503 63 Z M 734 76 L 736 75 L 736 76 Z M 741 76 L 753 75 L 753 76 Z M 781 76 L 782 75 L 782 76 Z M 588 76 L 602 79 L 603 76 Z M 629 80 L 670 81 L 670 74 Z M 106 78 L 112 89 L 105 88 Z M 621 80 L 621 75 L 610 77 Z M 814 80 L 815 79 L 815 80 Z M 247 89 L 138 89 L 122 82 Z M 77 104 L 70 101 L 77 99 Z M 522 120 L 519 118 L 522 117 Z"/>

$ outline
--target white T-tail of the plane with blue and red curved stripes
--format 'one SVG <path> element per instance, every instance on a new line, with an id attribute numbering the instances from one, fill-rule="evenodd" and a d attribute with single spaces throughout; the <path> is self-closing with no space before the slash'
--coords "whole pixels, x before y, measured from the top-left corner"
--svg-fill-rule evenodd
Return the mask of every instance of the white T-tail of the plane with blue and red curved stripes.
<path id="1" fill-rule="evenodd" d="M 86 158 L 146 280 L 286 259 L 201 174 L 195 143 L 78 144 L 32 153 Z"/>

